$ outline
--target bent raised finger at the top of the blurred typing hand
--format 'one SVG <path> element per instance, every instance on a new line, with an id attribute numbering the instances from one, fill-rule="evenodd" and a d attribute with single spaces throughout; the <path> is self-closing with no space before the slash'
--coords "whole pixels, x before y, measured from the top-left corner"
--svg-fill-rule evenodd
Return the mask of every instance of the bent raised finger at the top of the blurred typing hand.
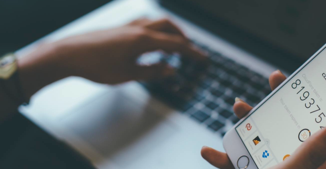
<path id="1" fill-rule="evenodd" d="M 153 21 L 148 25 L 146 25 L 145 27 L 155 31 L 179 34 L 184 38 L 186 38 L 185 34 L 181 31 L 181 29 L 178 26 L 176 26 L 173 22 L 171 22 L 169 19 L 166 18 Z"/>

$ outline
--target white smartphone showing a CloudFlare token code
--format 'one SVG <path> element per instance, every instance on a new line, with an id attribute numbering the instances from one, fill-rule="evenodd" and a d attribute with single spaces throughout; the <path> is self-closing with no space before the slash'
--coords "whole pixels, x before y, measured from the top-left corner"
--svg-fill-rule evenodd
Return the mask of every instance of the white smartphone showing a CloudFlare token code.
<path id="1" fill-rule="evenodd" d="M 226 133 L 223 146 L 236 169 L 266 169 L 287 160 L 326 126 L 325 47 Z"/>

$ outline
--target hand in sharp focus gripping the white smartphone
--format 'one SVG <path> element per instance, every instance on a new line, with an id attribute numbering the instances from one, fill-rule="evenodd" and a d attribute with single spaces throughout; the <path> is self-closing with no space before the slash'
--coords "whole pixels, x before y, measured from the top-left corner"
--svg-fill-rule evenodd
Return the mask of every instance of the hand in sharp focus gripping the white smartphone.
<path id="1" fill-rule="evenodd" d="M 269 77 L 269 83 L 274 90 L 286 77 L 275 71 Z M 233 106 L 234 113 L 238 118 L 243 118 L 252 109 L 247 103 L 236 99 Z M 312 135 L 284 162 L 271 169 L 324 169 L 326 168 L 326 129 Z M 228 155 L 209 147 L 201 149 L 202 157 L 209 163 L 220 169 L 234 169 Z"/>

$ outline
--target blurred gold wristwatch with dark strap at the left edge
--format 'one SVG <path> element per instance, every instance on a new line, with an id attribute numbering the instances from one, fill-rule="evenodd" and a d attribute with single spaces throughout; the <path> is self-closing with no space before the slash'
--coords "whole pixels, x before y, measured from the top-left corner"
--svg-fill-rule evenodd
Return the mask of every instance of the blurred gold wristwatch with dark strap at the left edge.
<path id="1" fill-rule="evenodd" d="M 18 65 L 15 54 L 9 53 L 0 58 L 0 87 L 15 104 L 28 103 L 22 92 L 18 76 Z"/>

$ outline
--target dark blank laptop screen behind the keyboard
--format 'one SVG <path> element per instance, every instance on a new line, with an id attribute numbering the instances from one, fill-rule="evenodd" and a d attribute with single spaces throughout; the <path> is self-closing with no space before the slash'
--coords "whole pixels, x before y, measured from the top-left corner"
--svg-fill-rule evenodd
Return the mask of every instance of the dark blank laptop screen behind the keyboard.
<path id="1" fill-rule="evenodd" d="M 195 5 L 303 60 L 326 43 L 326 1 L 179 1 Z"/>

